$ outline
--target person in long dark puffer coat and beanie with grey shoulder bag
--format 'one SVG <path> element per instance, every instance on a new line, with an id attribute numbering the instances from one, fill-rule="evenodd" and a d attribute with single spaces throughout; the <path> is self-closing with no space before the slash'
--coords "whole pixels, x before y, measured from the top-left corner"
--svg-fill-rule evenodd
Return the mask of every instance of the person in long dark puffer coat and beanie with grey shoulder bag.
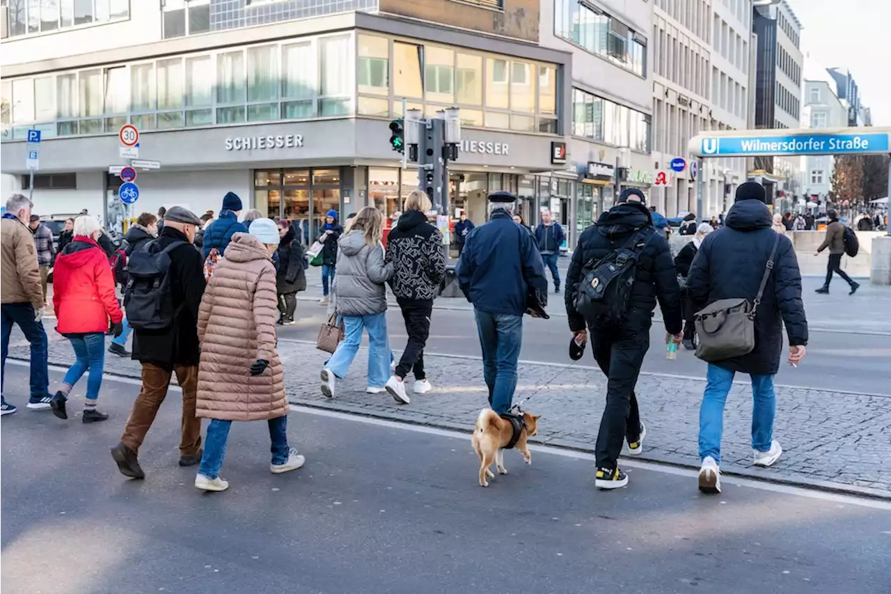
<path id="1" fill-rule="evenodd" d="M 771 213 L 764 205 L 764 187 L 746 182 L 736 191 L 724 227 L 709 234 L 687 277 L 687 290 L 697 311 L 721 299 L 755 301 L 773 245 L 777 252 L 756 309 L 755 350 L 735 359 L 708 365 L 706 392 L 699 410 L 699 490 L 721 491 L 721 434 L 723 408 L 736 372 L 752 376 L 755 406 L 752 411 L 752 449 L 756 466 L 771 466 L 782 449 L 773 440 L 776 396 L 773 376 L 780 370 L 782 327 L 789 334 L 789 364 L 805 357 L 807 319 L 801 301 L 801 273 L 792 242 L 771 228 Z"/>

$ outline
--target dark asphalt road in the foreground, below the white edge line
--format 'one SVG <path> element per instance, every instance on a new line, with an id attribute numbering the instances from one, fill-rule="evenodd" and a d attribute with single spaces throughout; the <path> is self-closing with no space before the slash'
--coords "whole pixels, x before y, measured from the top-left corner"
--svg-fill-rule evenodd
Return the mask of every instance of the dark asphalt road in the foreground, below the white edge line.
<path id="1" fill-rule="evenodd" d="M 25 369 L 7 369 L 22 403 Z M 236 425 L 232 487 L 204 494 L 176 466 L 171 392 L 129 481 L 107 448 L 136 390 L 106 379 L 102 425 L 0 420 L 0 592 L 887 592 L 887 503 L 731 481 L 709 497 L 645 465 L 594 491 L 589 458 L 552 450 L 509 452 L 482 489 L 467 435 L 354 417 L 292 413 L 307 466 L 278 476 L 265 424 Z"/>

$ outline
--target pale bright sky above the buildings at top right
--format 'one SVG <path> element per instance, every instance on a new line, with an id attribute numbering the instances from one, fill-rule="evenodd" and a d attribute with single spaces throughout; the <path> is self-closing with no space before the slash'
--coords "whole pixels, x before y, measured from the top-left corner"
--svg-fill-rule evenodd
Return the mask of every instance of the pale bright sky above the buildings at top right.
<path id="1" fill-rule="evenodd" d="M 891 0 L 788 0 L 801 21 L 805 78 L 813 68 L 846 68 L 874 126 L 891 126 Z"/>

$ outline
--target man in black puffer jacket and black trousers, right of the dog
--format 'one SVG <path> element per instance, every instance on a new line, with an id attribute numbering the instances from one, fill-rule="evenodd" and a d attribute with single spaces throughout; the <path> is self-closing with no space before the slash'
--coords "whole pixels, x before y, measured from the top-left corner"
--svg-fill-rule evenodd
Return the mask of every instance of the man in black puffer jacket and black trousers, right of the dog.
<path id="1" fill-rule="evenodd" d="M 576 285 L 584 280 L 584 265 L 605 258 L 623 247 L 637 231 L 652 225 L 643 194 L 629 188 L 619 196 L 616 206 L 603 213 L 597 224 L 585 229 L 578 238 L 567 272 L 565 293 L 569 330 L 576 342 L 583 343 L 587 338 L 586 321 L 575 306 Z M 590 325 L 594 359 L 608 378 L 607 406 L 596 448 L 595 484 L 601 489 L 617 489 L 628 483 L 627 475 L 617 463 L 623 440 L 628 440 L 631 454 L 642 452 L 645 429 L 634 384 L 650 348 L 650 325 L 657 299 L 668 334 L 680 342 L 683 317 L 674 261 L 665 236 L 654 231 L 637 263 L 625 323 L 617 327 Z"/>

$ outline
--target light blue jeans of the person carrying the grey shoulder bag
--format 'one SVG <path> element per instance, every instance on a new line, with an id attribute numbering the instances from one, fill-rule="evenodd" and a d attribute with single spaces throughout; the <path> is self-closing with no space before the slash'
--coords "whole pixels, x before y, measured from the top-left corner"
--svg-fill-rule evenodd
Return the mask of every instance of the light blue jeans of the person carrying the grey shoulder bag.
<path id="1" fill-rule="evenodd" d="M 699 458 L 711 456 L 721 464 L 721 436 L 723 434 L 723 408 L 733 384 L 732 371 L 708 366 L 706 393 L 699 408 Z M 773 417 L 776 414 L 776 394 L 773 392 L 773 375 L 752 375 L 752 448 L 769 451 L 773 440 Z"/>

